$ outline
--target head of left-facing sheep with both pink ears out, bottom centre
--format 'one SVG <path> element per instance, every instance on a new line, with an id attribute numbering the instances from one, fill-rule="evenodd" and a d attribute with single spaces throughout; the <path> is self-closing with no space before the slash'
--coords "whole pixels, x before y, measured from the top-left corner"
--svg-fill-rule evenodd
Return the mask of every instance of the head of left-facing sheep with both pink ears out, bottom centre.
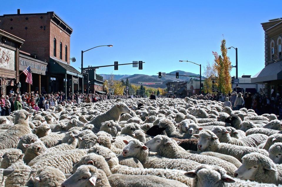
<path id="1" fill-rule="evenodd" d="M 122 155 L 124 157 L 128 157 L 128 156 L 134 157 L 141 150 L 148 150 L 148 147 L 146 147 L 139 140 L 130 140 L 129 142 L 127 140 L 123 140 L 123 141 L 126 144 L 124 150 L 122 151 Z"/>

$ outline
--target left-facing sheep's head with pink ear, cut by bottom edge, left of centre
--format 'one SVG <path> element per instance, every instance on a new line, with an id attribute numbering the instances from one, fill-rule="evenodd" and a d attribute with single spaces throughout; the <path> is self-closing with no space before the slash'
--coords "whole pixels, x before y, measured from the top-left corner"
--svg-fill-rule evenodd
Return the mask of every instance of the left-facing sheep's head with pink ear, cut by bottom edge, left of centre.
<path id="1" fill-rule="evenodd" d="M 91 167 L 91 168 L 89 168 Z M 83 165 L 61 184 L 61 187 L 96 186 L 98 169 L 94 166 Z"/>

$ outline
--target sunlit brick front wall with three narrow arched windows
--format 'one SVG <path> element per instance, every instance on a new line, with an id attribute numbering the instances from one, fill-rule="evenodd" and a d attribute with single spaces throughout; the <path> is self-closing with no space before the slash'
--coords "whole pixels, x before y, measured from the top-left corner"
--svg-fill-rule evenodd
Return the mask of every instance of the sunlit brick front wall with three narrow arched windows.
<path id="1" fill-rule="evenodd" d="M 54 38 L 56 37 L 56 57 L 54 57 Z M 60 42 L 62 42 L 62 59 L 60 59 Z M 70 64 L 70 36 L 60 27 L 50 22 L 50 56 L 65 61 L 65 46 L 68 47 L 67 62 Z"/>

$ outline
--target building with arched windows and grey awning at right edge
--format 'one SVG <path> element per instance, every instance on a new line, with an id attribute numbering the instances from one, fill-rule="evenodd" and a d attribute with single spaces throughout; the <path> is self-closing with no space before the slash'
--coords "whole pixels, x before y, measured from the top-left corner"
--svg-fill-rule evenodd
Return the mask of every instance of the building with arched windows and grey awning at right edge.
<path id="1" fill-rule="evenodd" d="M 282 18 L 271 19 L 261 24 L 264 32 L 264 65 L 265 67 L 251 78 L 252 83 L 265 84 L 266 92 L 270 95 L 271 87 L 274 92 L 282 93 Z"/>

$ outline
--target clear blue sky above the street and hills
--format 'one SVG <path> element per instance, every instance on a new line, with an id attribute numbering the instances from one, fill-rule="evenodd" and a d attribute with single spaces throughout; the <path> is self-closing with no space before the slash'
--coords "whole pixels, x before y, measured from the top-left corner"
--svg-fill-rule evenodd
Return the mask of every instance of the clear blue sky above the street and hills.
<path id="1" fill-rule="evenodd" d="M 3 1 L 0 15 L 55 11 L 73 29 L 71 63 L 84 67 L 130 63 L 142 60 L 143 70 L 131 65 L 98 69 L 99 74 L 147 74 L 183 70 L 198 73 L 199 67 L 213 62 L 212 51 L 220 52 L 220 41 L 238 48 L 238 76 L 255 75 L 264 67 L 262 22 L 282 17 L 268 1 Z M 279 13 L 280 12 L 280 13 Z M 235 65 L 235 49 L 228 50 Z M 79 70 L 79 69 L 78 69 Z M 233 68 L 231 75 L 235 75 Z"/>

